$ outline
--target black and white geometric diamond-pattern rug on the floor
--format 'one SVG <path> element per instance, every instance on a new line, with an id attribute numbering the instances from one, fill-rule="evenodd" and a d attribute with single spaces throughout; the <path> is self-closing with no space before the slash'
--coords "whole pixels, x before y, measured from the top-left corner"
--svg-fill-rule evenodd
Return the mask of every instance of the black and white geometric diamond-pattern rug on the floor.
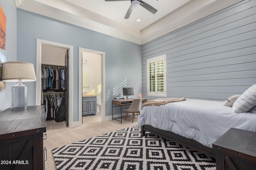
<path id="1" fill-rule="evenodd" d="M 216 170 L 215 159 L 134 126 L 52 150 L 58 170 Z"/>

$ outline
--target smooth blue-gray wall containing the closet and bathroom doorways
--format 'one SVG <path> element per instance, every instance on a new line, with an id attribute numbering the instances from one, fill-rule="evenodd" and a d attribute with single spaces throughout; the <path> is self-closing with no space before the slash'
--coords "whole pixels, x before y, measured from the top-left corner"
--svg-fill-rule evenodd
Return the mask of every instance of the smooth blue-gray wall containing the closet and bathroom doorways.
<path id="1" fill-rule="evenodd" d="M 74 47 L 74 116 L 78 121 L 78 48 L 105 52 L 106 116 L 112 115 L 112 99 L 123 86 L 142 91 L 141 45 L 104 35 L 69 23 L 17 9 L 17 61 L 33 63 L 36 69 L 36 39 Z M 35 105 L 36 82 L 28 82 L 28 105 Z"/>

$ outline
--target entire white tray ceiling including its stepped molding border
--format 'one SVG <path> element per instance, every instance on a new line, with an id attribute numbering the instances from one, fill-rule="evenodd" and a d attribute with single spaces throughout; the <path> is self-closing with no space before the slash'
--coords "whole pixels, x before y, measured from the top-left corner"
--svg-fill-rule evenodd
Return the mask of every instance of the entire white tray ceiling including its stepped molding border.
<path id="1" fill-rule="evenodd" d="M 152 14 L 138 6 L 132 10 L 129 19 L 124 19 L 129 0 L 15 0 L 17 8 L 137 44 L 147 43 L 239 1 L 144 0 L 158 11 Z M 141 22 L 136 22 L 137 19 Z"/>

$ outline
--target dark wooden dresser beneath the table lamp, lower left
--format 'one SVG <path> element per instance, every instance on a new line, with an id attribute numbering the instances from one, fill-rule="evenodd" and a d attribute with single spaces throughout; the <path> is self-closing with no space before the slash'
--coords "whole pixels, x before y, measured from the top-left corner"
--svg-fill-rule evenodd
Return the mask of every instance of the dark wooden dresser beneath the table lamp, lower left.
<path id="1" fill-rule="evenodd" d="M 43 170 L 44 106 L 0 112 L 0 170 Z"/>

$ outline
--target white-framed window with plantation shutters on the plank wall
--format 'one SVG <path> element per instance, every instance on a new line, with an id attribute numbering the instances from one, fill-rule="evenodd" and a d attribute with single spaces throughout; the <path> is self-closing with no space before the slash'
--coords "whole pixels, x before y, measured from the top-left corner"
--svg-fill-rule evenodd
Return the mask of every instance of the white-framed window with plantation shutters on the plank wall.
<path id="1" fill-rule="evenodd" d="M 166 55 L 147 60 L 148 96 L 166 96 Z"/>

